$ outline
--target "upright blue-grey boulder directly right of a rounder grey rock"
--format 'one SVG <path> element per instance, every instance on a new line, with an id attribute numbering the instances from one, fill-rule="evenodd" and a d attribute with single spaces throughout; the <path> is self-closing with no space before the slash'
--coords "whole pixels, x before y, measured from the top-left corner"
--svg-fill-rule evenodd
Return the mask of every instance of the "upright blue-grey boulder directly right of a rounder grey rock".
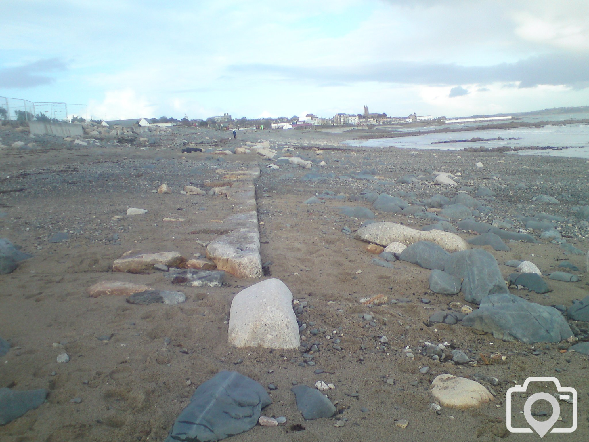
<path id="1" fill-rule="evenodd" d="M 462 279 L 464 299 L 473 304 L 479 304 L 484 296 L 508 292 L 497 261 L 486 250 L 454 252 L 446 260 L 444 271 Z"/>

